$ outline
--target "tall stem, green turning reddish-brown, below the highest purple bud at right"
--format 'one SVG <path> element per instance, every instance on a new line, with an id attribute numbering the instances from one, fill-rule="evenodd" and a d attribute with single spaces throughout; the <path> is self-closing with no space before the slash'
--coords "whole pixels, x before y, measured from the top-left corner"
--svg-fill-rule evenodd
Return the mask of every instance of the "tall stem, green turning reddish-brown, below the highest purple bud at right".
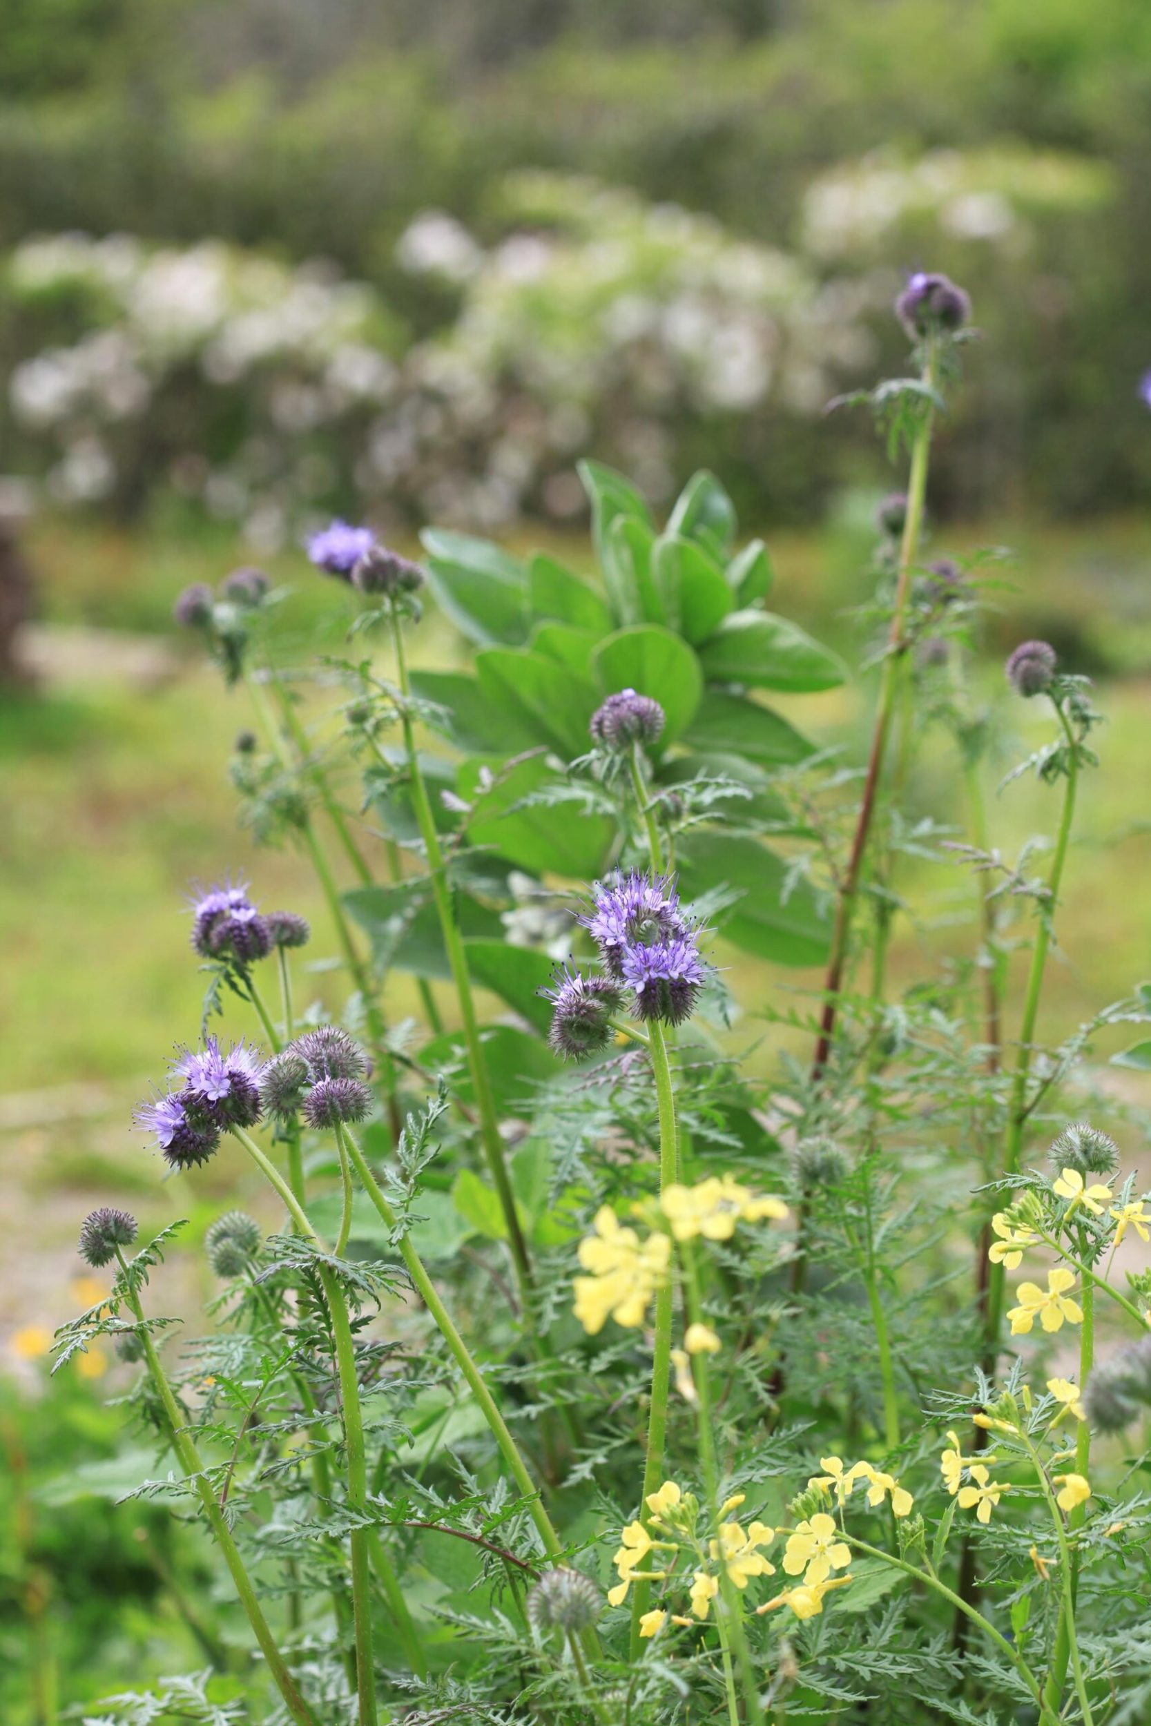
<path id="1" fill-rule="evenodd" d="M 935 388 L 939 376 L 939 354 L 935 342 L 930 343 L 927 352 L 927 364 L 923 368 L 923 381 L 930 390 Z M 911 589 L 911 571 L 915 568 L 915 559 L 920 549 L 920 533 L 923 528 L 923 506 L 927 501 L 927 468 L 932 447 L 932 428 L 935 423 L 935 409 L 928 402 L 923 411 L 923 418 L 915 432 L 915 442 L 911 445 L 911 468 L 908 473 L 908 513 L 903 525 L 903 540 L 899 545 L 899 575 L 896 580 L 896 602 L 892 609 L 890 632 L 887 637 L 887 652 L 884 656 L 884 671 L 880 680 L 878 706 L 875 709 L 875 727 L 871 730 L 871 751 L 868 756 L 868 772 L 863 785 L 863 797 L 859 803 L 859 815 L 856 818 L 856 832 L 851 846 L 851 856 L 847 860 L 847 870 L 839 884 L 839 898 L 835 904 L 835 927 L 832 930 L 832 951 L 827 965 L 827 977 L 823 982 L 823 1017 L 820 1024 L 820 1039 L 816 1043 L 815 1060 L 811 1065 L 811 1077 L 818 1080 L 823 1075 L 828 1056 L 832 1053 L 832 1039 L 835 1034 L 835 1017 L 839 1013 L 839 994 L 844 984 L 844 967 L 847 963 L 847 946 L 851 941 L 851 922 L 856 908 L 856 899 L 859 896 L 859 882 L 863 875 L 863 863 L 868 851 L 868 839 L 871 834 L 871 820 L 875 816 L 875 808 L 878 801 L 880 778 L 884 773 L 884 759 L 887 754 L 887 740 L 890 735 L 892 716 L 896 709 L 896 696 L 899 692 L 899 670 L 906 656 L 909 642 L 904 637 L 904 614 L 908 608 L 908 594 Z"/>

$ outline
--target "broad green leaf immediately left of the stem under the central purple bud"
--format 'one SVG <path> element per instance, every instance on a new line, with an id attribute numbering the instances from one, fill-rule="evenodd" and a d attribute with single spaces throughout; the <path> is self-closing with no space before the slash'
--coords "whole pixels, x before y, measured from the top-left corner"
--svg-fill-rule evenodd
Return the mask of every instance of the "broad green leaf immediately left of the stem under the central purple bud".
<path id="1" fill-rule="evenodd" d="M 473 846 L 490 846 L 533 875 L 568 875 L 594 879 L 607 856 L 614 823 L 606 815 L 528 806 L 514 808 L 545 784 L 559 784 L 544 756 L 528 756 L 500 770 L 488 789 L 481 785 L 483 761 L 464 761 L 459 770 L 459 794 L 475 803 L 468 823 Z"/>

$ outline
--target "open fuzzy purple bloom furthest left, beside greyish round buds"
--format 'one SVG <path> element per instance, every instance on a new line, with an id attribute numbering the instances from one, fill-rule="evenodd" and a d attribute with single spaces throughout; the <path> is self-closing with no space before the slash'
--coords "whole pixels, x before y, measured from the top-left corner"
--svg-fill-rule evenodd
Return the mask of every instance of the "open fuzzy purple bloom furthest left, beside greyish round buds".
<path id="1" fill-rule="evenodd" d="M 216 1037 L 188 1049 L 173 1063 L 183 1086 L 136 1110 L 136 1122 L 155 1134 L 173 1169 L 205 1163 L 230 1127 L 252 1127 L 261 1118 L 261 1060 L 245 1043 L 228 1053 Z"/>

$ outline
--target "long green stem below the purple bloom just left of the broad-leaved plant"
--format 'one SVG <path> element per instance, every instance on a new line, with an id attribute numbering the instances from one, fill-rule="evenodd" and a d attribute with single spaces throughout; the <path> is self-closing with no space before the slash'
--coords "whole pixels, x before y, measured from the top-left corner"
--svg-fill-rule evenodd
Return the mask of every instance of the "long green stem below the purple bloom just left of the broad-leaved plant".
<path id="1" fill-rule="evenodd" d="M 402 697 L 400 725 L 404 730 L 404 753 L 407 756 L 411 799 L 416 811 L 419 837 L 423 839 L 428 856 L 431 894 L 435 898 L 440 934 L 443 935 L 443 946 L 447 948 L 447 960 L 452 970 L 452 982 L 456 984 L 456 996 L 459 999 L 459 1017 L 464 1030 L 464 1044 L 468 1048 L 468 1072 L 471 1074 L 471 1089 L 476 1101 L 476 1115 L 480 1117 L 480 1143 L 483 1146 L 483 1156 L 488 1165 L 492 1186 L 495 1187 L 504 1224 L 507 1227 L 507 1241 L 511 1244 L 511 1257 L 516 1269 L 523 1320 L 526 1326 L 531 1326 L 531 1258 L 528 1255 L 528 1243 L 519 1225 L 516 1198 L 511 1189 L 507 1165 L 504 1162 L 504 1141 L 500 1139 L 492 1080 L 483 1056 L 483 1048 L 480 1044 L 480 1024 L 476 1020 L 476 1008 L 471 994 L 468 954 L 464 953 L 464 942 L 456 922 L 447 870 L 443 866 L 443 851 L 440 849 L 440 835 L 435 827 L 435 816 L 431 815 L 431 803 L 428 801 L 428 787 L 425 785 L 419 756 L 416 754 L 412 721 L 407 711 L 411 685 L 407 680 L 407 659 L 404 654 L 404 630 L 395 611 L 392 613 L 392 640 L 395 644 L 395 665 Z"/>

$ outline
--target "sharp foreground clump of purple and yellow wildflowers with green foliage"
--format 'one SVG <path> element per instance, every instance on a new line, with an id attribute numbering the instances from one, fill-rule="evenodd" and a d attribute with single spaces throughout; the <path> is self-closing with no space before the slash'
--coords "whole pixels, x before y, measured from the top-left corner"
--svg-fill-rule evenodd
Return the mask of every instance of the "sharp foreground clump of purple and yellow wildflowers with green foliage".
<path id="1" fill-rule="evenodd" d="M 309 556 L 355 647 L 316 668 L 285 668 L 259 571 L 181 597 L 248 690 L 245 818 L 314 865 L 347 996 L 304 998 L 297 913 L 197 892 L 205 1017 L 242 999 L 261 1041 L 205 1030 L 138 1118 L 200 1208 L 200 1165 L 219 1191 L 245 1162 L 281 1222 L 207 1227 L 188 1341 L 152 1312 L 174 1231 L 131 1257 L 93 1212 L 112 1284 L 60 1358 L 116 1338 L 138 1491 L 200 1521 L 230 1579 L 198 1610 L 247 1641 L 109 1726 L 1148 1717 L 1151 1200 L 1082 1056 L 1151 991 L 1063 1041 L 1044 1008 L 1098 715 L 1044 642 L 980 708 L 980 563 L 923 526 L 972 309 L 921 273 L 897 316 L 911 375 L 856 399 L 906 463 L 863 778 L 770 704 L 846 668 L 766 608 L 708 473 L 659 526 L 585 463 L 597 580 L 440 530 L 425 570 L 335 521 Z M 425 576 L 468 671 L 409 670 Z M 1016 696 L 1051 734 L 1006 785 L 1035 772 L 1051 839 L 1009 861 L 985 792 Z M 906 808 L 930 730 L 946 828 Z M 897 989 L 925 853 L 970 923 Z"/>

